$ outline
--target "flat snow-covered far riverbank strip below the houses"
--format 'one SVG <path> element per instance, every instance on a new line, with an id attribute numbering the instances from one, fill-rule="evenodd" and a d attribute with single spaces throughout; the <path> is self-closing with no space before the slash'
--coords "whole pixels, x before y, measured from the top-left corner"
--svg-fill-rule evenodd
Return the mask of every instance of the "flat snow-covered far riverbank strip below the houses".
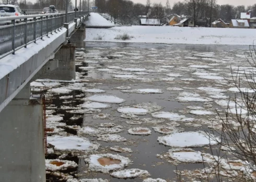
<path id="1" fill-rule="evenodd" d="M 130 40 L 115 39 L 115 37 L 125 33 L 130 36 Z M 251 45 L 253 40 L 256 41 L 256 31 L 254 29 L 132 26 L 110 29 L 87 28 L 85 41 Z"/>

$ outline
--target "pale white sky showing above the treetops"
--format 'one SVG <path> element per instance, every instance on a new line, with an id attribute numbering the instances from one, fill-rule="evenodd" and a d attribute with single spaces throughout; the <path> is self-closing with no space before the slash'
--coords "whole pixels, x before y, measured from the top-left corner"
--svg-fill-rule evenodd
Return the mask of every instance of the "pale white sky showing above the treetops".
<path id="1" fill-rule="evenodd" d="M 36 0 L 27 0 L 27 1 L 30 1 L 30 2 L 36 2 Z M 65 1 L 65 0 L 58 0 L 58 1 Z M 75 4 L 75 0 L 72 0 L 73 3 Z M 80 0 L 77 0 L 77 3 L 79 2 Z M 91 0 L 92 1 L 92 0 Z M 134 3 L 142 3 L 142 4 L 146 4 L 147 0 L 132 0 Z M 178 2 L 178 1 L 184 1 L 184 0 L 169 0 L 170 2 L 170 5 L 172 6 L 174 2 Z M 83 0 L 82 0 L 83 2 Z M 162 3 L 162 5 L 165 5 L 166 4 L 166 0 L 151 0 L 152 3 Z M 256 4 L 256 1 L 255 0 L 217 0 L 217 3 L 219 5 L 222 5 L 222 4 L 231 4 L 231 5 L 235 5 L 235 6 L 238 6 L 238 5 L 245 5 L 245 6 L 248 6 L 248 5 L 253 5 L 253 4 Z"/>

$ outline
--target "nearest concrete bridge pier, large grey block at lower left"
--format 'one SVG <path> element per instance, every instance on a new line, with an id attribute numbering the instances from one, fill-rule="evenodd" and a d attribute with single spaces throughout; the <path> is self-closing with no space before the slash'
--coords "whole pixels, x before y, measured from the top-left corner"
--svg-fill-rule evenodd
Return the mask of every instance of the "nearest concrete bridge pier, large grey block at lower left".
<path id="1" fill-rule="evenodd" d="M 29 83 L 0 112 L 0 181 L 45 181 L 43 106 Z"/>

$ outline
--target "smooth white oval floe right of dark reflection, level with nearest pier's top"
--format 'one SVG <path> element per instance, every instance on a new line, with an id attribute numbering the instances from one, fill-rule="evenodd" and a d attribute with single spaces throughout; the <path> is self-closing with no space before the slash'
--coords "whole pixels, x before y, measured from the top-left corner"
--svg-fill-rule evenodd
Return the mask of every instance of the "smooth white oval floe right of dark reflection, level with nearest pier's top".
<path id="1" fill-rule="evenodd" d="M 108 96 L 108 95 L 94 95 L 87 97 L 86 99 L 95 101 L 95 102 L 107 102 L 107 103 L 122 103 L 125 100 L 117 96 Z"/>

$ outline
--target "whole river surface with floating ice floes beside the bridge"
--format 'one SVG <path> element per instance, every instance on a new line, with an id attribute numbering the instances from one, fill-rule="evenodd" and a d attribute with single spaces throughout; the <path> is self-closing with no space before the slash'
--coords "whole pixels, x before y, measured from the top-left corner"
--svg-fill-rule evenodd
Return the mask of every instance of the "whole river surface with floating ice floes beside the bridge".
<path id="1" fill-rule="evenodd" d="M 228 82 L 230 66 L 256 72 L 245 60 L 248 50 L 154 46 L 90 43 L 86 51 L 76 51 L 76 64 L 83 68 L 77 69 L 76 80 L 31 83 L 47 88 L 51 101 L 46 106 L 48 143 L 53 145 L 46 157 L 49 179 L 176 181 L 175 165 L 185 181 L 204 177 L 202 162 L 212 166 L 216 156 L 210 145 L 218 147 L 204 131 L 222 128 L 216 110 L 224 115 L 229 96 L 237 93 Z M 248 90 L 246 82 L 241 88 Z M 230 106 L 235 109 L 232 99 Z M 220 174 L 241 170 L 237 162 L 232 166 L 223 159 Z M 214 177 L 213 168 L 206 170 Z"/>

